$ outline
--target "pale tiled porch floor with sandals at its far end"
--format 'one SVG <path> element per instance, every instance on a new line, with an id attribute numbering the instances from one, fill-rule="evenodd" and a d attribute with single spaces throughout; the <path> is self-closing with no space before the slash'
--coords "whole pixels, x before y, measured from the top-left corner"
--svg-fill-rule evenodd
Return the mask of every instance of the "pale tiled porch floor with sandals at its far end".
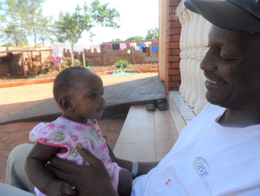
<path id="1" fill-rule="evenodd" d="M 159 161 L 178 139 L 169 110 L 147 111 L 145 106 L 131 106 L 114 154 L 137 161 Z"/>

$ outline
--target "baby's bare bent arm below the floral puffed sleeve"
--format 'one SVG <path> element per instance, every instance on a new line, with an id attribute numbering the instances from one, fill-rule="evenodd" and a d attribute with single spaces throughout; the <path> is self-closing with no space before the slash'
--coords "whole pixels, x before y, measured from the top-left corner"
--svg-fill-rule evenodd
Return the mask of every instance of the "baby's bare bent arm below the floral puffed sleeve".
<path id="1" fill-rule="evenodd" d="M 46 163 L 55 156 L 60 149 L 60 147 L 44 145 L 37 142 L 25 160 L 25 172 L 32 184 L 44 194 L 48 193 L 48 195 L 52 195 L 54 192 L 64 189 L 67 195 L 77 195 L 77 192 L 73 190 L 75 189 L 73 186 L 52 177 L 45 167 Z"/>

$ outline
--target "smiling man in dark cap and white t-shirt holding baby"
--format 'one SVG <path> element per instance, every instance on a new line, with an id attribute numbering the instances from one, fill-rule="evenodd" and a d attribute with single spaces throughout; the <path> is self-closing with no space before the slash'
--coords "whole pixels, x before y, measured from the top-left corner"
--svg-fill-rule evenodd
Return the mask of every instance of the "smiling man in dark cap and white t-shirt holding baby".
<path id="1" fill-rule="evenodd" d="M 112 151 L 109 155 L 134 176 L 132 196 L 260 195 L 260 2 L 184 0 L 184 5 L 213 24 L 209 50 L 200 64 L 210 104 L 159 163 L 118 159 Z M 18 167 L 14 153 L 21 149 L 11 152 L 9 167 Z M 49 172 L 73 184 L 79 195 L 117 195 L 102 162 L 80 144 L 78 150 L 90 166 L 54 157 Z M 31 190 L 26 180 L 18 182 L 21 175 L 10 175 L 9 182 L 16 179 L 19 187 Z"/>

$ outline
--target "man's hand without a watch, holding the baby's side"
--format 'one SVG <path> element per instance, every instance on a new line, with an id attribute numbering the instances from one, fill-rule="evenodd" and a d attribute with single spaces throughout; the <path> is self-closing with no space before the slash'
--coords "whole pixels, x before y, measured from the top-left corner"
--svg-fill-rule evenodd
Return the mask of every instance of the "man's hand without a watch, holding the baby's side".
<path id="1" fill-rule="evenodd" d="M 79 196 L 118 196 L 103 162 L 85 149 L 81 143 L 77 145 L 77 149 L 84 160 L 90 164 L 89 166 L 76 165 L 53 157 L 51 159 L 53 165 L 47 166 L 49 173 L 55 178 L 73 184 Z"/>

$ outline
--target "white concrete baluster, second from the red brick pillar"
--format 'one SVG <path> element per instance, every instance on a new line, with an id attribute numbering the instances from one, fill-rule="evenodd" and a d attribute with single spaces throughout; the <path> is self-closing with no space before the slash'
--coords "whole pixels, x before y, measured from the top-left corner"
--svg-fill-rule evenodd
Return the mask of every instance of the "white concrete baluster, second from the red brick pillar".
<path id="1" fill-rule="evenodd" d="M 183 9 L 183 18 L 185 21 L 185 28 L 184 28 L 184 32 L 183 32 L 183 62 L 181 64 L 181 66 L 183 67 L 183 75 L 181 75 L 181 84 L 183 86 L 182 90 L 181 90 L 181 96 L 184 97 L 185 96 L 185 92 L 186 89 L 188 88 L 187 86 L 187 60 L 188 60 L 188 33 L 189 33 L 189 26 L 190 26 L 190 15 L 187 12 L 187 9 L 184 8 Z"/>

